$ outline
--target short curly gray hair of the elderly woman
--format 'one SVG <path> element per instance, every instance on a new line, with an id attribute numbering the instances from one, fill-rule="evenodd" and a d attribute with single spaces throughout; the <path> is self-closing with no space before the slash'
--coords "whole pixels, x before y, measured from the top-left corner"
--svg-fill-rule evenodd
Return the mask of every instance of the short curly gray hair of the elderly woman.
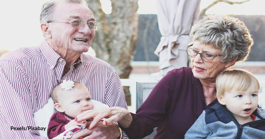
<path id="1" fill-rule="evenodd" d="M 246 60 L 254 43 L 247 26 L 238 18 L 227 15 L 203 17 L 192 26 L 190 38 L 221 49 L 222 62 Z"/>

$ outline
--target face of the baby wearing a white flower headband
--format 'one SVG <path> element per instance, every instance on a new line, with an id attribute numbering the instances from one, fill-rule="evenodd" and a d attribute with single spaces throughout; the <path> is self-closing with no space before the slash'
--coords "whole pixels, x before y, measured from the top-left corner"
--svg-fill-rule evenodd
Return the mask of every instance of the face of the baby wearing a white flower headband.
<path id="1" fill-rule="evenodd" d="M 63 91 L 58 102 L 64 113 L 72 118 L 94 108 L 88 89 L 81 85 L 75 85 L 73 89 Z"/>

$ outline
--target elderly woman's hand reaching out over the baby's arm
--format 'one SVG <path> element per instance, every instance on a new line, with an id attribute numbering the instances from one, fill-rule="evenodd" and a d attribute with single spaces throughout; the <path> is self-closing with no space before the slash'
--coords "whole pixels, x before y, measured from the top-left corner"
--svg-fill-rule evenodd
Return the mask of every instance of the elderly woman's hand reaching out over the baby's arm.
<path id="1" fill-rule="evenodd" d="M 104 119 L 103 119 L 104 118 Z M 132 116 L 130 112 L 121 107 L 110 107 L 110 108 L 100 108 L 95 110 L 88 110 L 76 117 L 76 122 L 81 122 L 84 120 L 91 120 L 88 129 L 93 129 L 96 124 L 101 121 L 102 125 L 108 126 L 114 122 L 119 122 L 123 128 L 130 127 L 132 123 Z"/>

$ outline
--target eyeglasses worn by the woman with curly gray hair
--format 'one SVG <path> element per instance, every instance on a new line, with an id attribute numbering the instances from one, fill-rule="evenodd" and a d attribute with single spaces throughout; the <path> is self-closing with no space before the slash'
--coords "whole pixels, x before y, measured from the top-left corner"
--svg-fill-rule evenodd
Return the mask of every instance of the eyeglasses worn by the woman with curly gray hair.
<path id="1" fill-rule="evenodd" d="M 196 51 L 190 47 L 187 47 L 187 53 L 191 57 L 195 57 L 195 56 L 197 56 L 197 54 L 200 54 L 200 58 L 205 62 L 212 62 L 215 57 L 223 56 L 222 54 L 212 55 L 209 53 L 199 53 L 198 51 Z"/>

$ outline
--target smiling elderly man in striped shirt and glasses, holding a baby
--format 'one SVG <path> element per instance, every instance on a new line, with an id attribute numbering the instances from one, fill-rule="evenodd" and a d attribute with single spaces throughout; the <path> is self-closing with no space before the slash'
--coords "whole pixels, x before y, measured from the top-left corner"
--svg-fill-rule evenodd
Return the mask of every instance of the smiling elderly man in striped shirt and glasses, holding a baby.
<path id="1" fill-rule="evenodd" d="M 127 109 L 116 72 L 106 62 L 85 55 L 99 28 L 85 0 L 51 0 L 43 5 L 37 47 L 20 48 L 0 58 L 0 139 L 38 139 L 33 114 L 63 80 L 83 83 L 92 99 Z M 36 130 L 35 130 L 36 129 Z M 75 138 L 117 139 L 117 125 L 83 130 Z"/>

